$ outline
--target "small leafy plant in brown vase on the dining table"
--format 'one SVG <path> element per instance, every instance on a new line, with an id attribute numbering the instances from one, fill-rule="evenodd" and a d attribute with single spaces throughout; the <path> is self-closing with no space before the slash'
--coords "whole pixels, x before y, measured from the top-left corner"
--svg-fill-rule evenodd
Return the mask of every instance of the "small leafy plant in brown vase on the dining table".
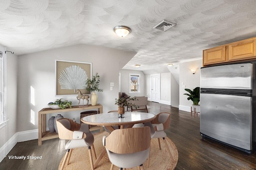
<path id="1" fill-rule="evenodd" d="M 130 100 L 138 100 L 138 99 L 136 99 L 135 97 L 131 98 L 130 96 L 126 96 L 125 98 L 119 96 L 119 98 L 115 100 L 115 104 L 118 106 L 118 117 L 119 118 L 124 117 L 124 107 L 125 106 L 127 106 L 127 107 L 132 106 L 132 107 L 135 107 L 135 108 L 138 107 L 135 104 L 130 103 L 129 102 Z"/>

